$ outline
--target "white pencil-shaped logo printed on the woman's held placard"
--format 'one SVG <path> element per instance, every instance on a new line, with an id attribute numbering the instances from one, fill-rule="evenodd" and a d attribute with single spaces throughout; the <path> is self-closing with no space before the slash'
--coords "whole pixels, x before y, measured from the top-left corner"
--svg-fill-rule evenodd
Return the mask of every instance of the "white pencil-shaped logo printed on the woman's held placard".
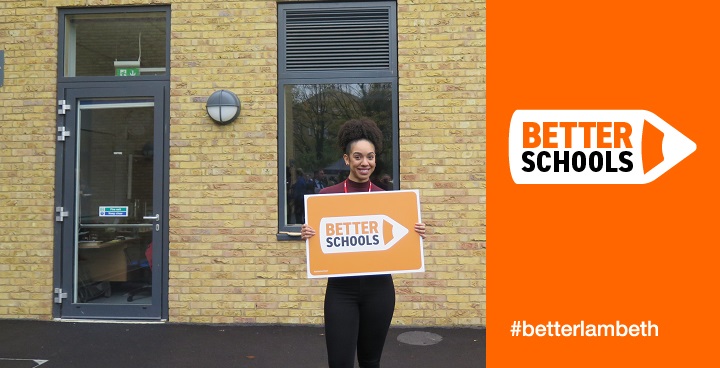
<path id="1" fill-rule="evenodd" d="M 383 251 L 408 232 L 385 215 L 326 217 L 320 220 L 320 247 L 326 254 Z M 386 235 L 392 238 L 386 241 Z"/>

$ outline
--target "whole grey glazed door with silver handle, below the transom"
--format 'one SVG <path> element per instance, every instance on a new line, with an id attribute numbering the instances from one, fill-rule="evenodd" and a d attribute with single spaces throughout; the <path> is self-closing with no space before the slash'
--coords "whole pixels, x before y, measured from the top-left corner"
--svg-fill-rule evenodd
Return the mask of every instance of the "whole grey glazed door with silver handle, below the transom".
<path id="1" fill-rule="evenodd" d="M 56 314 L 161 319 L 166 89 L 120 83 L 60 92 Z"/>

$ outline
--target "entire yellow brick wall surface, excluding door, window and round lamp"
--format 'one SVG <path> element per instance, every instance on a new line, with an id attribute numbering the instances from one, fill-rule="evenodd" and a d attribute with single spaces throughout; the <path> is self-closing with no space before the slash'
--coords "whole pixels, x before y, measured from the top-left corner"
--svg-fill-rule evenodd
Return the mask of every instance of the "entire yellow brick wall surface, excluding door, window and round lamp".
<path id="1" fill-rule="evenodd" d="M 169 317 L 322 323 L 324 280 L 277 232 L 276 1 L 5 1 L 0 318 L 51 317 L 57 7 L 170 3 Z M 485 1 L 398 1 L 402 189 L 426 269 L 397 275 L 399 325 L 485 325 Z M 239 119 L 212 124 L 228 89 Z M 10 130 L 8 130 L 10 129 Z"/>

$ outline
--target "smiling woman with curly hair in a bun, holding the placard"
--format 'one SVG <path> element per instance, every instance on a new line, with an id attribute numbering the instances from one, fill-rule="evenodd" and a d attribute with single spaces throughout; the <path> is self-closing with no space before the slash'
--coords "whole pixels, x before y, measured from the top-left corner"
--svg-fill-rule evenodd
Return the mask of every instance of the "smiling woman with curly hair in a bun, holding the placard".
<path id="1" fill-rule="evenodd" d="M 382 132 L 370 119 L 347 121 L 338 132 L 348 178 L 323 188 L 325 193 L 373 192 L 382 189 L 370 182 L 375 158 L 382 151 Z M 425 238 L 425 224 L 415 224 Z M 302 225 L 303 240 L 315 230 Z M 325 290 L 325 342 L 330 368 L 353 368 L 355 352 L 360 368 L 380 366 L 385 337 L 395 310 L 395 287 L 391 275 L 330 277 Z"/>

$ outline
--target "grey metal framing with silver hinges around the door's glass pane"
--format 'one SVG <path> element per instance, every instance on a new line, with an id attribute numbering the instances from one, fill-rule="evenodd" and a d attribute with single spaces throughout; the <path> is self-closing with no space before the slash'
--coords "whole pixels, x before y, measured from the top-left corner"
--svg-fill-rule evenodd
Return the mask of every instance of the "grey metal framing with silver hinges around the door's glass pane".
<path id="1" fill-rule="evenodd" d="M 160 230 L 153 231 L 153 296 L 151 305 L 75 304 L 75 172 L 77 103 L 82 98 L 149 97 L 154 100 L 153 209 L 160 214 Z M 169 83 L 137 81 L 61 83 L 58 85 L 58 142 L 56 146 L 53 317 L 60 319 L 166 320 L 168 318 L 169 213 Z M 65 110 L 65 111 L 63 111 Z M 63 113 L 64 112 L 64 113 Z M 159 210 L 159 212 L 158 212 Z M 64 213 L 63 213 L 64 212 Z M 61 220 L 61 221 L 58 221 Z M 157 240 L 157 243 L 155 242 Z M 156 245 L 157 244 L 157 245 Z M 159 245 L 159 246 L 158 246 Z M 66 296 L 66 297 L 63 297 Z"/>

